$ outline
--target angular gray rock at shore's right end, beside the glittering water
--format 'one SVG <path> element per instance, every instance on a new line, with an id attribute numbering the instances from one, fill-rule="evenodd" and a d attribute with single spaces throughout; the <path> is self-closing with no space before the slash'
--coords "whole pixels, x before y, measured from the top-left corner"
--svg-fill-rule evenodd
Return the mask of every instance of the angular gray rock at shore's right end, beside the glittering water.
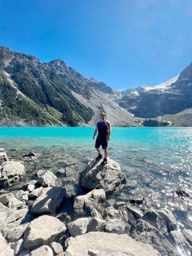
<path id="1" fill-rule="evenodd" d="M 174 215 L 167 208 L 156 210 L 159 216 L 166 222 L 168 232 L 177 229 L 177 221 Z"/>

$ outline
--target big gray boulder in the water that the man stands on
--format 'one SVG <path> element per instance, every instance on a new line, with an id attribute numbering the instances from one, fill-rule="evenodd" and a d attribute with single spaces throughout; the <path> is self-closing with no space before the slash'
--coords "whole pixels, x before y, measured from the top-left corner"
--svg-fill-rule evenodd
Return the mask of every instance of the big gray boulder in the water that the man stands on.
<path id="1" fill-rule="evenodd" d="M 104 165 L 101 161 L 102 159 L 88 161 L 81 172 L 80 185 L 89 189 L 103 188 L 106 194 L 120 191 L 126 184 L 126 177 L 119 164 L 111 158 Z"/>

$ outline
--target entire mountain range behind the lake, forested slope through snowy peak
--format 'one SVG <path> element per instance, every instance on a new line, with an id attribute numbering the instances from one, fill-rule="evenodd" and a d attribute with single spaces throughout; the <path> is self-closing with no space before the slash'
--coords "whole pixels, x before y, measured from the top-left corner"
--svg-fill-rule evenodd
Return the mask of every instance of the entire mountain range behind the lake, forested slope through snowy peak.
<path id="1" fill-rule="evenodd" d="M 61 59 L 0 47 L 0 126 L 93 126 L 101 111 L 112 126 L 191 126 L 191 108 L 192 63 L 158 86 L 113 90 Z"/>

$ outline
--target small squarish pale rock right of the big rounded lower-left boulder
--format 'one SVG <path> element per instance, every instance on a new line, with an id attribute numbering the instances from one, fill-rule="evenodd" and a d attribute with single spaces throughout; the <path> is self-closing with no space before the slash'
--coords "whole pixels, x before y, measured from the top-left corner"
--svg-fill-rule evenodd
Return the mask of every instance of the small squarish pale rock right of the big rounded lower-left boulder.
<path id="1" fill-rule="evenodd" d="M 79 236 L 87 232 L 89 218 L 79 218 L 75 221 L 68 223 L 68 230 L 72 237 Z"/>

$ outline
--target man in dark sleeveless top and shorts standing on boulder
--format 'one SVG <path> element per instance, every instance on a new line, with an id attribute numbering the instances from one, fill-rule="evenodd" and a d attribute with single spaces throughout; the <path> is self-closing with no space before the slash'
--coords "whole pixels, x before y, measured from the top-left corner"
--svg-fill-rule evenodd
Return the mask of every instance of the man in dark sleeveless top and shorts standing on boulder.
<path id="1" fill-rule="evenodd" d="M 93 135 L 93 140 L 95 139 L 95 135 L 97 134 L 97 131 L 98 131 L 98 135 L 95 142 L 95 148 L 98 152 L 98 156 L 96 157 L 96 159 L 102 158 L 101 151 L 99 148 L 101 145 L 104 150 L 104 159 L 101 162 L 101 164 L 105 164 L 108 162 L 107 147 L 108 147 L 108 141 L 110 140 L 110 135 L 111 135 L 111 125 L 108 121 L 105 120 L 105 114 L 103 112 L 100 114 L 100 121 L 96 125 L 95 132 Z"/>

